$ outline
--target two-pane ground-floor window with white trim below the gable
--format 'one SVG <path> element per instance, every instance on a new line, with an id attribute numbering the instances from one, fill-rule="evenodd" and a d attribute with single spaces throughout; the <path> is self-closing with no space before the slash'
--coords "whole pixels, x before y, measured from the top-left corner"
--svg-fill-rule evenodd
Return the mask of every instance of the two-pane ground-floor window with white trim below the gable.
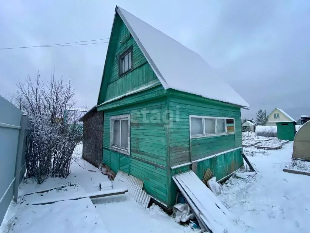
<path id="1" fill-rule="evenodd" d="M 121 153 L 130 153 L 130 115 L 111 117 L 110 147 Z"/>

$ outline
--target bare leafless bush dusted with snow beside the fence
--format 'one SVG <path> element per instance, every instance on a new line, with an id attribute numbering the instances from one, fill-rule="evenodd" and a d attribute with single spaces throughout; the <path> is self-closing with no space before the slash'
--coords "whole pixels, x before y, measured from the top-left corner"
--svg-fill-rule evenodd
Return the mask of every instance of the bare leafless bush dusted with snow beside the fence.
<path id="1" fill-rule="evenodd" d="M 12 96 L 17 107 L 25 112 L 32 124 L 27 137 L 27 177 L 42 183 L 49 176 L 67 177 L 71 172 L 73 150 L 82 141 L 82 127 L 78 120 L 83 112 L 68 114 L 74 101 L 71 81 L 61 77 L 41 80 L 40 71 L 35 80 L 28 76 L 18 83 Z"/>

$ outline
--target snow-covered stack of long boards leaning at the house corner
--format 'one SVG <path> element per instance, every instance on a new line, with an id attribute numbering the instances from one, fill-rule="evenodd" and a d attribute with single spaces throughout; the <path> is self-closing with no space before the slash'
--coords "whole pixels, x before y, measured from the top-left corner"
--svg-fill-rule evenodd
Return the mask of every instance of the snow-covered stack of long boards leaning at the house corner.
<path id="1" fill-rule="evenodd" d="M 193 171 L 174 175 L 173 180 L 202 229 L 209 229 L 213 233 L 235 232 L 230 212 Z"/>

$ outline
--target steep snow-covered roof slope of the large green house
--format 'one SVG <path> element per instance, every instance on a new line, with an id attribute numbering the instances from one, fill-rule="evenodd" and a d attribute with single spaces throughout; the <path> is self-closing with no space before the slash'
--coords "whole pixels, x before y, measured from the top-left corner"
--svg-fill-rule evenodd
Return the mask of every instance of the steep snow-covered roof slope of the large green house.
<path id="1" fill-rule="evenodd" d="M 203 58 L 121 7 L 122 18 L 165 89 L 249 107 Z"/>

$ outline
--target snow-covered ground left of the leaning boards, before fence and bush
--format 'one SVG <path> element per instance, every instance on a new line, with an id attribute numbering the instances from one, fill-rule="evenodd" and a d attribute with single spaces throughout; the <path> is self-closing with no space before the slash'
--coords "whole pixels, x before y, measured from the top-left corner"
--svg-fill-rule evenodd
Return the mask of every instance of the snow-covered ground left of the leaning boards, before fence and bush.
<path id="1" fill-rule="evenodd" d="M 91 199 L 84 198 L 47 205 L 26 205 L 33 201 L 100 190 L 99 183 L 108 177 L 81 158 L 82 145 L 74 153 L 72 172 L 66 179 L 49 178 L 41 185 L 26 179 L 20 184 L 19 203 L 11 203 L 0 232 L 193 232 L 190 227 L 179 225 L 156 205 L 143 208 L 128 193 L 93 199 L 94 204 Z M 53 190 L 23 196 L 47 189 Z"/>

